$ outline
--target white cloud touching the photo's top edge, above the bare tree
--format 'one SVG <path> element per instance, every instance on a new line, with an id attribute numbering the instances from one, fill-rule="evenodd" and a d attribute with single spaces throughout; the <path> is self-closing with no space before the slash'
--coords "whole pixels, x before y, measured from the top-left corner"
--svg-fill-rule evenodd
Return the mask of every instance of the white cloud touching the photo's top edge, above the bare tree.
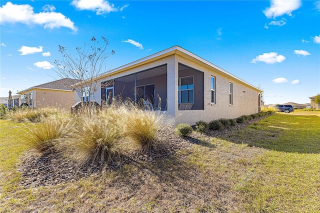
<path id="1" fill-rule="evenodd" d="M 107 0 L 72 0 L 71 4 L 79 10 L 95 11 L 97 15 L 103 15 L 109 12 L 122 11 L 128 4 L 122 7 L 115 7 L 113 3 Z"/>

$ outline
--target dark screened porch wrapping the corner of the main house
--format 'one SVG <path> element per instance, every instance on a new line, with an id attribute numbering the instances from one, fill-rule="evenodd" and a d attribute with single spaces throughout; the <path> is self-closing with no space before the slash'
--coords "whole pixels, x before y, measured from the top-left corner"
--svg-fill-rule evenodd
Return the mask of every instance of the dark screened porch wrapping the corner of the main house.
<path id="1" fill-rule="evenodd" d="M 130 99 L 150 110 L 167 110 L 167 65 L 159 65 L 101 82 L 101 104 L 114 97 Z M 178 65 L 178 109 L 203 109 L 203 72 Z"/>

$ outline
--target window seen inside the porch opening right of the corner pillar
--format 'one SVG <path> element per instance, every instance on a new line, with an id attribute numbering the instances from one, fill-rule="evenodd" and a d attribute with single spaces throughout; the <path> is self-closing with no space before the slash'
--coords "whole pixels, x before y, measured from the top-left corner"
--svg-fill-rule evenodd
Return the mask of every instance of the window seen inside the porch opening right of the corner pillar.
<path id="1" fill-rule="evenodd" d="M 179 77 L 179 103 L 193 103 L 193 76 Z"/>

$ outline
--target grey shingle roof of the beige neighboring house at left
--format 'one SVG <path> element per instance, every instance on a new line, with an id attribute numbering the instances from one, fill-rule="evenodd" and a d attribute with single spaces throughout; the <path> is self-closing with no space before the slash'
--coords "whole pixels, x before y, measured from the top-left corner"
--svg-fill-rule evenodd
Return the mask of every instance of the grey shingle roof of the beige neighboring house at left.
<path id="1" fill-rule="evenodd" d="M 79 80 L 72 78 L 62 78 L 59 80 L 54 80 L 47 83 L 42 83 L 36 86 L 32 86 L 30 88 L 24 89 L 22 91 L 17 92 L 18 94 L 22 94 L 31 89 L 52 89 L 52 90 L 67 90 L 72 91 L 71 85 L 77 83 Z"/>

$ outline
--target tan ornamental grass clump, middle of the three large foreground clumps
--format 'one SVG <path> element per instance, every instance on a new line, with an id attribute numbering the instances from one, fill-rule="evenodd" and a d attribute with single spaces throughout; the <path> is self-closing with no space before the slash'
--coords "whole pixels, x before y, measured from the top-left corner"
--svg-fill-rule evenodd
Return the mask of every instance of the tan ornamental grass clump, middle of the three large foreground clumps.
<path id="1" fill-rule="evenodd" d="M 76 128 L 66 144 L 68 151 L 82 163 L 109 163 L 114 154 L 119 153 L 119 129 L 105 119 L 97 116 L 77 117 Z"/>

